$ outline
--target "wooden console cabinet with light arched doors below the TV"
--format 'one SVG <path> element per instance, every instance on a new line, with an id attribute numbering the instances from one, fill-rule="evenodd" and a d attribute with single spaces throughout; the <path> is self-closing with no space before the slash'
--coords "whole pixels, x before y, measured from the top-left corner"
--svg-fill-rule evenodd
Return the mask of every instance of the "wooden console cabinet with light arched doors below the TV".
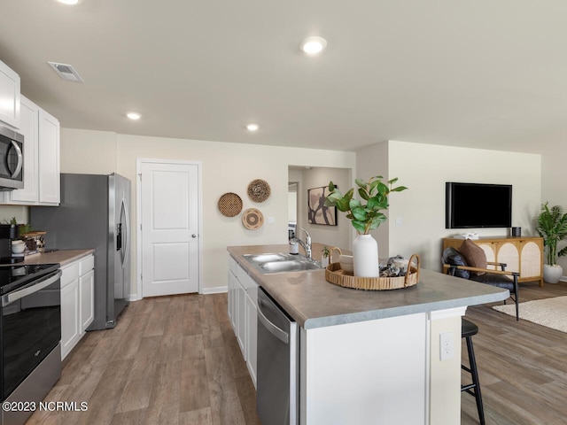
<path id="1" fill-rule="evenodd" d="M 443 250 L 458 250 L 463 239 L 446 237 Z M 519 272 L 518 282 L 540 281 L 543 286 L 543 238 L 535 236 L 481 236 L 471 239 L 486 253 L 487 261 L 506 263 L 506 270 Z"/>

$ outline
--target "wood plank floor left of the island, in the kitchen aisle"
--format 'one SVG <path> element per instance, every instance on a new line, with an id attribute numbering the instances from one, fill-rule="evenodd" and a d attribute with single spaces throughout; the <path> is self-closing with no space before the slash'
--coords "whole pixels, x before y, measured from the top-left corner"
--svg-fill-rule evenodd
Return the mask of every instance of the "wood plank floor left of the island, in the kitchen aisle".
<path id="1" fill-rule="evenodd" d="M 226 313 L 227 295 L 146 298 L 116 328 L 88 332 L 49 401 L 27 424 L 259 424 L 256 393 Z"/>

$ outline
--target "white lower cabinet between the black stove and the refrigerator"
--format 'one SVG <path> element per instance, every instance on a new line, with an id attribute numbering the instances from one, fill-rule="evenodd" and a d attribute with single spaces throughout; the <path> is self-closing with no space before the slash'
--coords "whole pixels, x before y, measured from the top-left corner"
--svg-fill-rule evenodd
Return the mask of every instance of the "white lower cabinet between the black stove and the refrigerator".
<path id="1" fill-rule="evenodd" d="M 61 359 L 94 320 L 95 258 L 89 255 L 61 267 Z"/>

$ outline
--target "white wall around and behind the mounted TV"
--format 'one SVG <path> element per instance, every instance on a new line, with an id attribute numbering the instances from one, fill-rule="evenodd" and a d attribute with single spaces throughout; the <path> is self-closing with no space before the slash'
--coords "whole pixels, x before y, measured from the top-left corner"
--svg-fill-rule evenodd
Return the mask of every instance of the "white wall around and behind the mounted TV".
<path id="1" fill-rule="evenodd" d="M 462 233 L 445 228 L 445 182 L 512 184 L 512 225 L 535 235 L 532 220 L 541 199 L 541 156 L 449 146 L 389 142 L 389 175 L 408 190 L 390 198 L 389 255 L 417 253 L 422 267 L 440 270 L 441 238 Z M 479 199 L 482 202 L 482 199 Z M 396 219 L 403 221 L 396 224 Z M 508 236 L 508 228 L 474 229 Z"/>

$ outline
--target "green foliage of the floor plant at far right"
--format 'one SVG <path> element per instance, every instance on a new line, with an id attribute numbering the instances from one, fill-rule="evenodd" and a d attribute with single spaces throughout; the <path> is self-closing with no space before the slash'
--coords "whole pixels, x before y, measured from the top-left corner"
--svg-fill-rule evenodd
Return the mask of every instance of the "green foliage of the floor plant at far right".
<path id="1" fill-rule="evenodd" d="M 536 229 L 546 247 L 546 264 L 554 266 L 559 257 L 567 255 L 567 246 L 557 251 L 557 244 L 567 237 L 567 213 L 563 214 L 563 208 L 559 205 L 549 208 L 546 202 L 541 205 Z"/>

